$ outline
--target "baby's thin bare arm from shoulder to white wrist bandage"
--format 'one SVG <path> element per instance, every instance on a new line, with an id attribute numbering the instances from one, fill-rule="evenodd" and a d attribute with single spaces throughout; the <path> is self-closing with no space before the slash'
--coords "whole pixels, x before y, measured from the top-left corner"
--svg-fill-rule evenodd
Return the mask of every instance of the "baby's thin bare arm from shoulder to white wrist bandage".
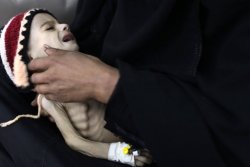
<path id="1" fill-rule="evenodd" d="M 109 144 L 94 142 L 81 137 L 72 126 L 62 103 L 47 100 L 42 95 L 39 95 L 38 101 L 38 104 L 42 106 L 43 110 L 47 111 L 50 116 L 53 117 L 65 142 L 72 149 L 89 156 L 107 159 Z"/>

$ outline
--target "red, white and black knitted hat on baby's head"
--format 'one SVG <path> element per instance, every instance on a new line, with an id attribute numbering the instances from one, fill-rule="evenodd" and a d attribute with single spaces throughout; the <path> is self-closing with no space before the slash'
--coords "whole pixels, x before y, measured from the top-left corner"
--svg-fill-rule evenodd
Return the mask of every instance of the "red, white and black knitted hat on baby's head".
<path id="1" fill-rule="evenodd" d="M 31 9 L 19 13 L 2 27 L 0 33 L 0 55 L 4 69 L 14 85 L 21 89 L 31 86 L 27 68 L 30 58 L 27 50 L 31 23 L 38 13 L 52 15 L 45 9 Z"/>

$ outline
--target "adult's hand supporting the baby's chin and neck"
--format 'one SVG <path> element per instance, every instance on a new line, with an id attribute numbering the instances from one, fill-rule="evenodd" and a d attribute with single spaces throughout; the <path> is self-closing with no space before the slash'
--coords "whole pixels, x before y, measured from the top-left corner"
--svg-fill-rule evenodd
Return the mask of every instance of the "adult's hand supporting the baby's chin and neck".
<path id="1" fill-rule="evenodd" d="M 116 68 L 80 52 L 48 46 L 44 50 L 48 57 L 33 59 L 28 66 L 37 93 L 60 102 L 107 103 L 119 79 Z"/>

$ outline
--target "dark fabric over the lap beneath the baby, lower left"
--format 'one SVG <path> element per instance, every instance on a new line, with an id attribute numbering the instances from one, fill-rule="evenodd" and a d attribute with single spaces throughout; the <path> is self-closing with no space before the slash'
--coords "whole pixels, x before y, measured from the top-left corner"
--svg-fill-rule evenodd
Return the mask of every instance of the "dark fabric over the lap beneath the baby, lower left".
<path id="1" fill-rule="evenodd" d="M 18 114 L 37 113 L 33 93 L 20 92 L 10 82 L 0 60 L 0 122 Z M 71 150 L 54 123 L 47 118 L 21 119 L 0 128 L 0 167 L 125 167 Z"/>

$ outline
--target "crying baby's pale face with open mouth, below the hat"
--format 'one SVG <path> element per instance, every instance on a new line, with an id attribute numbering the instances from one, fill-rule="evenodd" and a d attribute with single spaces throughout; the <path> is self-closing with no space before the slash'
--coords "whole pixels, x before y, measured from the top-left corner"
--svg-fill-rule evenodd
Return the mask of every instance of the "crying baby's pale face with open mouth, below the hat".
<path id="1" fill-rule="evenodd" d="M 77 51 L 78 45 L 67 24 L 60 24 L 47 13 L 35 15 L 31 23 L 28 53 L 31 58 L 44 57 L 44 44 L 53 48 Z"/>

